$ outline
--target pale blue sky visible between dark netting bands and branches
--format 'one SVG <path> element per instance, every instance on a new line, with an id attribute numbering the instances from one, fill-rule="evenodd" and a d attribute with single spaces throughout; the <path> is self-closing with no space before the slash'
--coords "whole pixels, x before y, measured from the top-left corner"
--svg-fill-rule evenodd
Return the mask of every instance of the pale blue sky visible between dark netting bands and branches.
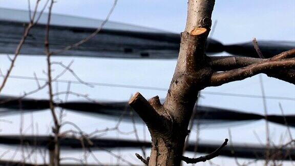
<path id="1" fill-rule="evenodd" d="M 34 1 L 32 1 L 34 2 Z M 54 5 L 53 12 L 74 16 L 103 19 L 111 8 L 112 1 L 104 0 L 58 0 Z M 32 5 L 33 6 L 33 5 Z M 24 0 L 0 0 L 0 7 L 24 9 L 28 8 L 27 1 Z M 121 23 L 140 25 L 180 33 L 185 26 L 186 2 L 185 1 L 166 1 L 166 0 L 119 0 L 116 9 L 111 16 L 111 20 Z M 213 38 L 220 40 L 224 44 L 249 41 L 252 37 L 267 40 L 288 40 L 295 41 L 295 1 L 285 0 L 261 0 L 261 1 L 217 1 L 213 13 L 213 20 L 217 20 L 217 26 Z M 54 57 L 54 61 L 62 61 L 67 64 L 74 59 L 73 69 L 83 80 L 90 82 L 105 82 L 113 84 L 153 86 L 168 88 L 174 72 L 175 60 L 116 60 L 107 58 L 66 58 Z M 15 69 L 12 74 L 32 76 L 36 72 L 39 77 L 46 77 L 42 70 L 46 69 L 45 57 L 20 56 L 17 59 Z M 6 56 L 0 57 L 0 67 L 8 67 L 9 60 Z M 26 70 L 24 70 L 26 69 Z M 61 69 L 55 67 L 56 74 Z M 3 70 L 5 71 L 5 70 Z M 63 79 L 74 79 L 70 74 L 66 74 Z M 263 75 L 266 95 L 295 97 L 294 85 L 268 78 Z M 67 85 L 59 84 L 59 90 L 66 89 Z M 36 88 L 34 81 L 24 81 L 9 79 L 4 94 L 19 95 L 23 91 L 30 91 Z M 166 92 L 122 89 L 110 87 L 89 88 L 81 85 L 72 85 L 75 92 L 89 94 L 98 100 L 128 100 L 136 91 L 140 91 L 146 98 L 159 95 L 165 97 Z M 242 93 L 261 95 L 259 77 L 245 79 L 243 81 L 232 82 L 217 88 L 207 88 L 205 91 Z M 201 105 L 216 106 L 222 108 L 238 109 L 245 112 L 263 113 L 262 99 L 257 98 L 238 98 L 216 95 L 204 95 L 201 98 Z M 47 90 L 40 91 L 31 97 L 47 97 Z M 77 100 L 77 97 L 70 96 L 70 100 Z M 295 101 L 267 100 L 268 112 L 280 114 L 278 104 L 282 103 L 285 113 L 295 113 Z M 34 120 L 38 122 L 39 133 L 47 133 L 51 124 L 49 112 L 35 113 Z M 30 115 L 25 115 L 30 119 Z M 13 121 L 13 124 L 0 123 L 3 133 L 19 133 L 19 116 L 5 117 Z M 76 122 L 83 130 L 92 132 L 93 130 L 103 129 L 106 126 L 112 127 L 115 122 L 100 118 L 83 116 L 68 112 L 66 119 Z M 25 122 L 29 126 L 30 120 Z M 138 125 L 139 126 L 139 125 Z M 129 130 L 128 123 L 122 125 L 122 130 Z M 140 127 L 142 129 L 142 127 Z M 280 141 L 280 136 L 286 131 L 285 128 L 271 124 L 271 135 L 274 142 Z M 231 134 L 234 142 L 258 143 L 253 131 L 259 134 L 260 139 L 265 141 L 264 121 L 258 121 L 231 127 Z M 142 130 L 140 135 L 142 136 Z M 294 133 L 294 130 L 292 130 Z M 116 133 L 108 133 L 106 137 L 117 136 Z M 119 136 L 120 138 L 134 138 L 131 136 Z M 196 134 L 192 134 L 195 138 Z M 202 140 L 220 141 L 228 137 L 228 128 L 217 128 L 201 130 Z M 1 152 L 1 151 L 0 151 Z M 122 153 L 124 157 L 131 158 L 134 154 Z M 77 156 L 80 154 L 77 154 Z M 191 154 L 188 154 L 191 155 Z M 106 154 L 104 154 L 106 156 Z M 111 157 L 109 157 L 111 158 Z M 102 159 L 108 162 L 109 159 Z M 132 159 L 132 161 L 134 161 Z M 136 161 L 134 161 L 136 162 Z M 224 163 L 234 163 L 233 159 L 217 158 L 214 163 L 226 165 Z M 286 164 L 288 165 L 288 164 Z"/>

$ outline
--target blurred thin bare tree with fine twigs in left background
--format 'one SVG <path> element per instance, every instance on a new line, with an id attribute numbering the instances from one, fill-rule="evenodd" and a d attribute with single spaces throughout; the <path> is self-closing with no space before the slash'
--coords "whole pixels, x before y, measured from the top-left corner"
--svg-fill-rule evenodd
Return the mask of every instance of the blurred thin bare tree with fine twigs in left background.
<path id="1" fill-rule="evenodd" d="M 38 6 L 39 6 L 41 0 L 37 0 L 36 1 L 35 7 L 34 7 L 34 10 L 33 11 L 31 11 L 31 5 L 30 5 L 31 3 L 30 3 L 30 0 L 28 0 L 29 23 L 28 23 L 28 25 L 25 28 L 24 34 L 22 36 L 22 39 L 19 41 L 19 44 L 18 44 L 18 46 L 16 48 L 16 51 L 15 51 L 15 54 L 14 54 L 13 58 L 10 58 L 10 56 L 8 56 L 8 58 L 11 61 L 11 63 L 10 63 L 9 69 L 7 70 L 7 73 L 4 75 L 3 81 L 0 84 L 0 92 L 2 92 L 2 90 L 6 86 L 6 82 L 7 82 L 8 78 L 9 78 L 9 76 L 10 76 L 13 68 L 14 68 L 15 61 L 16 61 L 18 55 L 20 54 L 20 50 L 22 49 L 22 47 L 23 47 L 23 45 L 24 45 L 27 37 L 29 36 L 30 30 L 35 25 L 38 24 L 38 21 L 41 18 L 43 12 L 45 11 L 46 7 L 48 7 L 48 11 L 49 12 L 48 12 L 48 18 L 47 18 L 47 24 L 46 24 L 46 30 L 45 30 L 45 41 L 44 41 L 45 54 L 47 56 L 47 60 L 46 61 L 47 61 L 47 76 L 48 76 L 48 79 L 47 79 L 47 81 L 46 81 L 46 83 L 44 85 L 40 85 L 39 82 L 38 82 L 38 78 L 34 74 L 34 77 L 36 79 L 38 88 L 35 89 L 35 90 L 33 90 L 33 91 L 30 91 L 30 92 L 25 93 L 24 95 L 20 96 L 18 99 L 21 100 L 22 98 L 24 98 L 24 97 L 26 97 L 28 95 L 34 94 L 34 93 L 36 93 L 36 92 L 38 92 L 38 91 L 40 91 L 40 90 L 45 89 L 46 87 L 48 87 L 48 90 L 49 90 L 49 92 L 48 92 L 48 94 L 49 94 L 49 106 L 50 106 L 50 111 L 51 111 L 51 114 L 52 114 L 52 119 L 53 119 L 53 122 L 54 122 L 54 126 L 52 127 L 53 142 L 51 142 L 50 145 L 48 146 L 48 150 L 49 150 L 49 165 L 58 166 L 58 165 L 60 165 L 60 161 L 61 160 L 66 160 L 66 159 L 67 160 L 79 161 L 80 163 L 85 164 L 85 163 L 83 163 L 85 161 L 82 161 L 82 160 L 77 159 L 77 158 L 74 158 L 74 157 L 71 157 L 71 158 L 60 158 L 60 145 L 59 145 L 59 140 L 63 136 L 67 136 L 67 135 L 70 135 L 70 134 L 72 136 L 75 135 L 75 137 L 78 140 L 81 140 L 81 144 L 83 144 L 83 141 L 84 140 L 87 140 L 87 141 L 91 142 L 88 137 L 95 136 L 96 134 L 106 133 L 108 131 L 116 131 L 116 130 L 119 131 L 118 127 L 119 127 L 119 124 L 120 124 L 121 120 L 118 121 L 118 123 L 116 124 L 116 126 L 114 128 L 107 128 L 106 130 L 94 131 L 94 132 L 92 132 L 90 134 L 83 133 L 82 130 L 80 130 L 80 128 L 78 126 L 76 126 L 76 124 L 73 123 L 73 122 L 70 122 L 70 121 L 62 122 L 62 112 L 61 112 L 61 114 L 58 117 L 57 112 L 56 112 L 56 109 L 55 109 L 55 106 L 54 106 L 54 97 L 56 97 L 56 96 L 58 96 L 60 94 L 63 94 L 63 93 L 56 93 L 56 94 L 53 93 L 53 85 L 52 85 L 53 82 L 56 81 L 62 75 L 64 75 L 66 71 L 69 71 L 81 84 L 86 85 L 86 86 L 89 86 L 89 87 L 93 87 L 93 86 L 90 85 L 90 84 L 88 84 L 88 83 L 86 83 L 86 82 L 84 82 L 84 81 L 82 81 L 75 74 L 75 72 L 72 69 L 70 69 L 70 66 L 72 65 L 73 61 L 71 61 L 71 63 L 66 66 L 66 65 L 62 64 L 61 62 L 55 62 L 55 61 L 52 61 L 51 60 L 51 56 L 52 55 L 57 54 L 57 53 L 60 53 L 60 52 L 64 52 L 64 51 L 67 51 L 67 50 L 70 50 L 70 49 L 75 48 L 75 47 L 78 47 L 81 44 L 85 43 L 86 41 L 90 40 L 97 33 L 99 33 L 100 30 L 103 28 L 103 26 L 108 22 L 111 14 L 113 13 L 113 11 L 114 11 L 114 9 L 116 7 L 117 1 L 118 0 L 114 0 L 113 1 L 112 8 L 110 9 L 110 11 L 109 11 L 106 19 L 103 20 L 103 22 L 101 23 L 101 25 L 99 27 L 97 27 L 97 29 L 92 34 L 90 34 L 86 38 L 83 38 L 80 41 L 77 41 L 76 43 L 74 43 L 74 44 L 72 44 L 70 46 L 67 46 L 65 48 L 62 48 L 60 50 L 56 50 L 55 52 L 51 52 L 50 51 L 50 37 L 49 37 L 49 33 L 50 33 L 50 22 L 51 22 L 52 8 L 53 8 L 54 3 L 56 3 L 56 2 L 54 0 L 46 0 L 45 1 L 45 5 L 43 6 L 43 8 L 38 13 L 37 10 L 38 10 Z M 53 77 L 52 76 L 52 65 L 59 65 L 62 68 L 64 68 L 64 70 L 61 73 L 59 73 L 57 76 Z M 69 85 L 70 84 L 68 84 L 68 87 L 70 87 Z M 76 96 L 79 96 L 79 97 L 84 97 L 84 98 L 86 98 L 88 100 L 91 100 L 92 102 L 97 102 L 96 100 L 91 99 L 87 95 L 83 95 L 83 94 L 71 92 L 70 89 L 68 89 L 67 92 L 66 92 L 66 95 L 69 95 L 69 94 L 76 95 Z M 9 101 L 9 99 L 7 101 Z M 68 130 L 68 131 L 60 132 L 61 127 L 62 126 L 65 126 L 65 124 L 68 124 L 68 125 L 72 126 L 76 130 L 78 130 L 78 132 L 76 132 L 75 130 Z M 22 129 L 21 129 L 21 131 L 22 131 Z M 136 129 L 135 129 L 134 132 L 136 132 Z M 21 133 L 21 135 L 22 135 L 22 133 Z M 23 147 L 24 146 L 23 143 L 20 143 L 20 146 Z M 94 156 L 94 154 L 92 154 L 92 151 L 91 151 L 90 148 L 87 149 L 87 152 L 90 153 L 95 158 L 95 156 Z M 132 164 L 129 161 L 122 159 L 120 156 L 116 156 L 112 152 L 109 152 L 108 150 L 106 150 L 106 152 L 108 152 L 109 154 L 115 156 L 116 158 L 118 158 L 119 160 L 121 160 L 123 162 Z M 23 155 L 23 161 L 22 162 L 19 162 L 19 163 L 16 162 L 18 165 L 25 165 L 26 164 L 26 158 L 29 158 L 33 153 L 37 153 L 37 152 L 35 152 L 34 150 L 32 150 L 32 153 L 30 153 L 27 157 L 25 157 L 24 152 L 22 152 L 22 153 L 23 153 L 22 154 Z M 2 156 L 4 156 L 5 154 L 6 153 L 2 154 L 0 156 L 0 158 Z M 46 159 L 44 159 L 44 160 L 46 161 Z M 85 160 L 87 160 L 87 158 Z M 97 160 L 97 163 L 100 163 L 100 162 Z M 35 163 L 35 164 L 37 164 L 37 163 Z"/>

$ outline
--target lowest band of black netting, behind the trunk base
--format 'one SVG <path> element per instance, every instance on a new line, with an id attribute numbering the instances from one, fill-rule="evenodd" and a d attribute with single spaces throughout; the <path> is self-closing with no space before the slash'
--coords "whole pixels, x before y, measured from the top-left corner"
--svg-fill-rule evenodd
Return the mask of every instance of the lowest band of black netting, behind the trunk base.
<path id="1" fill-rule="evenodd" d="M 150 142 L 136 141 L 136 140 L 122 140 L 122 139 L 103 139 L 103 138 L 90 138 L 92 145 L 87 140 L 83 140 L 83 144 L 91 150 L 103 150 L 111 148 L 124 148 L 124 149 L 139 149 L 141 147 L 150 148 Z M 19 146 L 20 142 L 26 146 L 35 146 L 42 148 L 50 148 L 53 143 L 51 136 L 30 136 L 30 135 L 2 135 L 0 136 L 0 144 L 7 144 L 10 146 Z M 61 137 L 60 138 L 61 150 L 75 150 L 82 149 L 81 140 L 75 137 Z M 194 152 L 195 143 L 189 143 L 186 151 Z M 220 146 L 220 143 L 198 143 L 198 153 L 211 153 Z M 221 156 L 228 157 L 242 157 L 253 159 L 264 159 L 266 148 L 258 144 L 234 144 L 234 146 L 226 146 L 220 151 Z M 295 149 L 271 147 L 269 152 L 273 159 L 276 160 L 293 160 L 295 159 Z"/>

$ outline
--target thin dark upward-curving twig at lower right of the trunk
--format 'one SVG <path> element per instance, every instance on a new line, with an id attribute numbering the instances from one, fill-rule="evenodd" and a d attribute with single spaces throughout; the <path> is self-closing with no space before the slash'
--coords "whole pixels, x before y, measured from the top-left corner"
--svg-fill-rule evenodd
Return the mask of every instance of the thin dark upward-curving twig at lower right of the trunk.
<path id="1" fill-rule="evenodd" d="M 201 156 L 198 158 L 189 158 L 189 157 L 182 156 L 181 160 L 185 161 L 186 163 L 197 163 L 197 162 L 201 162 L 201 161 L 205 162 L 207 160 L 213 159 L 213 158 L 219 156 L 220 151 L 222 150 L 223 147 L 226 146 L 227 141 L 228 141 L 228 139 L 225 139 L 224 142 L 222 143 L 222 145 L 217 150 L 215 150 L 214 152 L 212 152 L 206 156 Z"/>

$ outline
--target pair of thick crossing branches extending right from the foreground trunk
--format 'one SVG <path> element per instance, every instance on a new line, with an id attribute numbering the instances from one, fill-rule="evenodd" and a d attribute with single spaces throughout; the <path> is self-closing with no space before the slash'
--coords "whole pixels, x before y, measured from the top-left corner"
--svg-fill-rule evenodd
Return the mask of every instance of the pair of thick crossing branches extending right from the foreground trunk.
<path id="1" fill-rule="evenodd" d="M 229 62 L 226 61 L 228 58 L 231 57 L 212 58 L 212 67 L 218 67 L 215 69 L 216 71 L 234 69 L 213 73 L 210 81 L 211 86 L 220 86 L 227 82 L 242 80 L 259 73 L 265 73 L 268 76 L 295 84 L 295 49 L 268 59 L 235 57 L 234 61 Z M 241 68 L 237 68 L 238 66 L 241 66 Z"/>

